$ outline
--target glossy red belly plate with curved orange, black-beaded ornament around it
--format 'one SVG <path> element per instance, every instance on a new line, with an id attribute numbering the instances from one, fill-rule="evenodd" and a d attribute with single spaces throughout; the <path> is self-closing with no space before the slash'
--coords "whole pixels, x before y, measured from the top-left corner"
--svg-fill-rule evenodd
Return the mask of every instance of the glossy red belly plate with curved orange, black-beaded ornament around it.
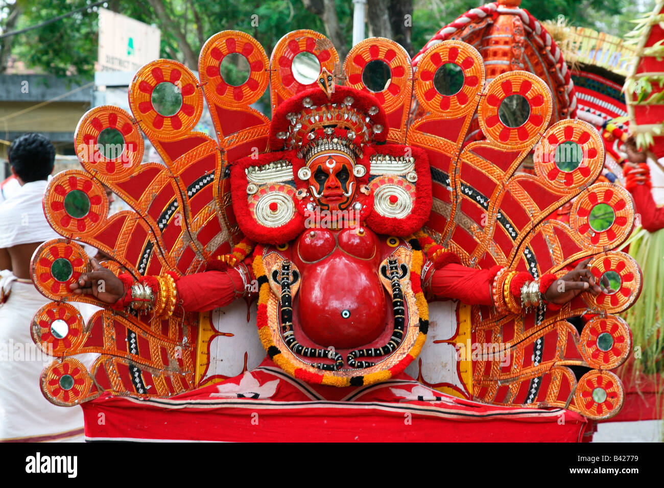
<path id="1" fill-rule="evenodd" d="M 362 260 L 339 246 L 339 234 L 317 262 L 303 262 L 290 248 L 257 250 L 260 339 L 272 361 L 296 378 L 330 386 L 384 381 L 404 370 L 426 339 L 422 252 L 400 241 L 384 258 L 376 246 Z"/>

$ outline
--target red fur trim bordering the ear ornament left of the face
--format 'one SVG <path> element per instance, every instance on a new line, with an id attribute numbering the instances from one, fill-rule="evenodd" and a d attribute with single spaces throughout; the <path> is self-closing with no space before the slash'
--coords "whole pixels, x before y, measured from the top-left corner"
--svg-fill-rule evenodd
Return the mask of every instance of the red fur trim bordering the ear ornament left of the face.
<path id="1" fill-rule="evenodd" d="M 249 210 L 247 199 L 247 177 L 244 170 L 250 166 L 264 166 L 280 159 L 293 162 L 293 172 L 297 174 L 295 151 L 281 151 L 259 154 L 258 157 L 243 157 L 232 163 L 230 169 L 230 189 L 233 212 L 242 233 L 253 240 L 264 244 L 285 244 L 295 239 L 304 230 L 304 217 L 295 212 L 293 218 L 279 227 L 268 227 L 260 224 Z M 301 166 L 301 161 L 299 163 Z M 297 177 L 296 177 L 297 179 Z"/>

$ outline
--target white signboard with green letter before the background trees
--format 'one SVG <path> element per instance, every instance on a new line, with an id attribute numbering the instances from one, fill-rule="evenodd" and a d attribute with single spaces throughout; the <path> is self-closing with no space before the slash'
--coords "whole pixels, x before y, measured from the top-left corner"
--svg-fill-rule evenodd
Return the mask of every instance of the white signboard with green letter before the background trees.
<path id="1" fill-rule="evenodd" d="M 97 71 L 136 71 L 159 58 L 161 31 L 131 17 L 99 9 Z"/>

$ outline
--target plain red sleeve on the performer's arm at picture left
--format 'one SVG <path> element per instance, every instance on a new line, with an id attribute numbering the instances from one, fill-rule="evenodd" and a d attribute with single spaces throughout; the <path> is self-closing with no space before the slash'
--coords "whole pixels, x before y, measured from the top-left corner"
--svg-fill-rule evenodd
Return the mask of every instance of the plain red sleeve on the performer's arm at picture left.
<path id="1" fill-rule="evenodd" d="M 225 307 L 244 295 L 244 282 L 238 270 L 208 271 L 181 276 L 175 283 L 178 301 L 188 312 L 203 312 Z"/>

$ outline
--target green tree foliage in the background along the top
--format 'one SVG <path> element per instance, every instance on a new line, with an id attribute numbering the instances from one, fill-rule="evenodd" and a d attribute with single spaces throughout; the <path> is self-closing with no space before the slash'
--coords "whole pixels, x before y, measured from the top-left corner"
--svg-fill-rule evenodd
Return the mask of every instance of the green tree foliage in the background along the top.
<path id="1" fill-rule="evenodd" d="M 564 15 L 569 25 L 623 35 L 638 11 L 654 0 L 523 0 L 539 20 Z M 0 73 L 11 60 L 57 75 L 91 76 L 97 56 L 98 7 L 92 0 L 0 0 L 3 34 L 40 25 L 77 9 L 82 11 L 25 33 L 0 39 Z M 481 0 L 367 0 L 367 35 L 390 37 L 411 54 L 434 33 Z M 351 47 L 353 2 L 334 0 L 108 0 L 104 7 L 161 29 L 161 56 L 196 68 L 203 43 L 218 31 L 250 33 L 268 55 L 295 29 L 325 33 L 343 59 Z M 88 7 L 88 8 L 85 8 Z M 406 16 L 410 19 L 406 20 Z"/>

